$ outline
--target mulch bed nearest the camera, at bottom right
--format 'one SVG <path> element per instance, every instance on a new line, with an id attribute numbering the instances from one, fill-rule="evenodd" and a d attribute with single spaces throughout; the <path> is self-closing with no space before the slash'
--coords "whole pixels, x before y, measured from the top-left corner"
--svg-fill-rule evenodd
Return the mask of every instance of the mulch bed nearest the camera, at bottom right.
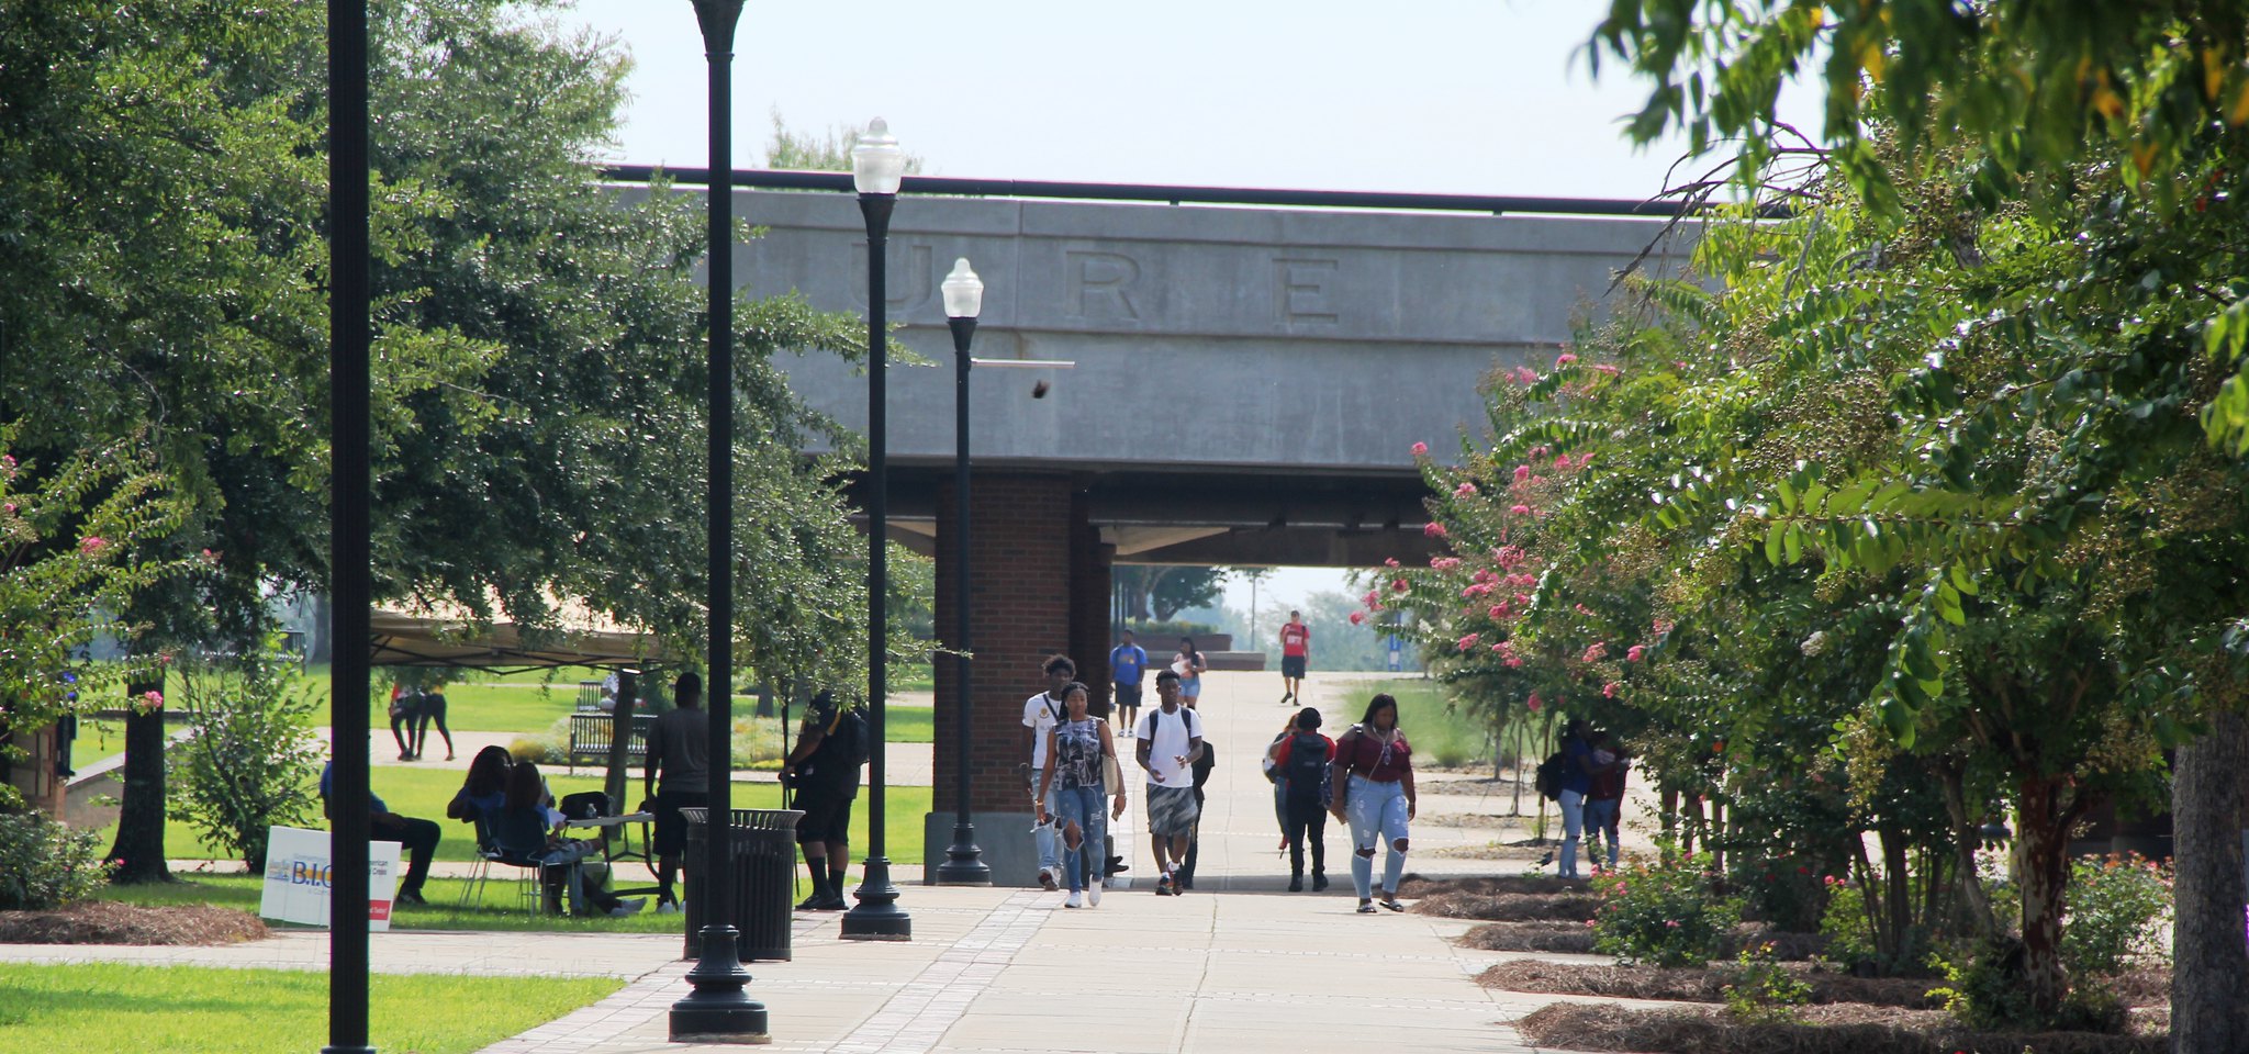
<path id="1" fill-rule="evenodd" d="M 1716 1007 L 1631 1011 L 1556 1002 L 1516 1023 L 1534 1047 L 1635 1054 L 2164 1054 L 2170 1036 L 1979 1034 L 1945 1011 L 1804 1007 L 1806 1025 L 1743 1025 Z"/>

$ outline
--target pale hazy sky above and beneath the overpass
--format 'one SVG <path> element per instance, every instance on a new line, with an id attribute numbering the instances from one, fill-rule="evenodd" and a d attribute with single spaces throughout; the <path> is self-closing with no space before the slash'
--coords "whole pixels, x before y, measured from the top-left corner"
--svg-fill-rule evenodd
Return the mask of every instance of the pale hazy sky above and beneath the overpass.
<path id="1" fill-rule="evenodd" d="M 1635 148 L 1644 90 L 1583 43 L 1597 0 L 751 2 L 735 31 L 735 166 L 778 112 L 884 117 L 927 175 L 1649 198 L 1685 146 Z M 704 166 L 706 63 L 688 2 L 580 0 L 564 29 L 634 58 L 614 160 Z M 1817 128 L 1799 94 L 1783 115 Z M 1689 166 L 1700 175 L 1709 164 Z M 1282 569 L 1262 602 L 1343 589 Z M 1248 609 L 1248 587 L 1228 587 Z"/>

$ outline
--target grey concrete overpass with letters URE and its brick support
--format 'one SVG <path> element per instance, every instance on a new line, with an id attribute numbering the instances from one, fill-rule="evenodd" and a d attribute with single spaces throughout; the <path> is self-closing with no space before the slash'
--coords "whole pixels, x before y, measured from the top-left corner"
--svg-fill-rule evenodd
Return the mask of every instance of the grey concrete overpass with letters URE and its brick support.
<path id="1" fill-rule="evenodd" d="M 735 247 L 756 294 L 866 308 L 866 236 L 848 193 L 738 191 L 765 236 Z M 891 229 L 888 317 L 940 369 L 891 371 L 893 537 L 938 555 L 954 596 L 951 337 L 938 283 L 956 256 L 985 281 L 981 357 L 1073 360 L 972 382 L 976 485 L 978 809 L 1021 814 L 1014 766 L 1039 661 L 1077 658 L 1107 694 L 1109 569 L 1140 564 L 1370 566 L 1426 555 L 1435 456 L 1489 431 L 1493 366 L 1550 364 L 1574 317 L 1662 220 L 1091 205 L 906 196 Z M 1676 267 L 1685 243 L 1644 265 Z M 834 357 L 785 362 L 794 389 L 866 425 L 866 380 Z M 938 605 L 951 634 L 951 605 Z M 938 699 L 951 699 L 949 663 Z M 951 719 L 938 724 L 949 836 Z M 1248 744 L 1235 744 L 1235 751 Z M 1021 832 L 994 816 L 987 832 Z M 1008 838 L 1026 841 L 1026 838 Z M 992 849 L 992 838 L 985 838 Z M 1017 867 L 1017 854 L 987 854 Z M 1010 870 L 1003 881 L 1028 881 Z"/>

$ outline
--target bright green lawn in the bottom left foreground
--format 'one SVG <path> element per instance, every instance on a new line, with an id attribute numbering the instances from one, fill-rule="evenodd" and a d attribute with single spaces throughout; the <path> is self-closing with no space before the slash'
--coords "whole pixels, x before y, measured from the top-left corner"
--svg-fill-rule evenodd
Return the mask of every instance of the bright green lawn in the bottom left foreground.
<path id="1" fill-rule="evenodd" d="M 621 989 L 612 978 L 369 978 L 369 1043 L 459 1054 Z M 328 1034 L 328 975 L 218 966 L 0 964 L 0 1043 L 72 1054 L 304 1050 Z"/>

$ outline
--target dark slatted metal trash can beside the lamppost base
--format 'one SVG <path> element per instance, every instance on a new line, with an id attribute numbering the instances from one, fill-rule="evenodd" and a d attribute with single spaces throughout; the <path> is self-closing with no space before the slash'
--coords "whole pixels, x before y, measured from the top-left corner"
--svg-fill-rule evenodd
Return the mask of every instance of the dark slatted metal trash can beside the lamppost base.
<path id="1" fill-rule="evenodd" d="M 688 823 L 686 858 L 686 955 L 702 957 L 704 899 L 693 892 L 704 874 L 704 852 L 711 849 L 711 811 L 679 809 Z M 789 960 L 789 924 L 796 897 L 796 820 L 798 809 L 733 809 L 733 897 L 729 921 L 738 933 L 735 953 L 742 962 Z"/>

